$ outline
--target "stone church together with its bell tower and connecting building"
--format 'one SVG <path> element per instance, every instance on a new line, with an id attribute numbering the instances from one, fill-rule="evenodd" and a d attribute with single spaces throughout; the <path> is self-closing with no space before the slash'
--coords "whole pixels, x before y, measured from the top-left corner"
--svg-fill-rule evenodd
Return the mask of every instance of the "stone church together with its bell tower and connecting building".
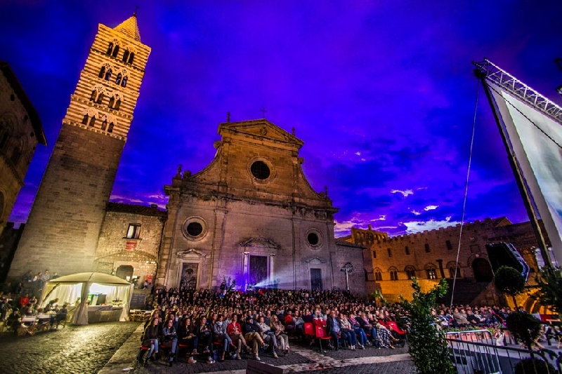
<path id="1" fill-rule="evenodd" d="M 209 166 L 180 168 L 164 186 L 166 211 L 109 201 L 149 54 L 136 15 L 99 25 L 10 276 L 98 271 L 158 287 L 230 278 L 365 293 L 362 247 L 334 239 L 338 209 L 306 180 L 302 140 L 265 119 L 221 123 Z"/>

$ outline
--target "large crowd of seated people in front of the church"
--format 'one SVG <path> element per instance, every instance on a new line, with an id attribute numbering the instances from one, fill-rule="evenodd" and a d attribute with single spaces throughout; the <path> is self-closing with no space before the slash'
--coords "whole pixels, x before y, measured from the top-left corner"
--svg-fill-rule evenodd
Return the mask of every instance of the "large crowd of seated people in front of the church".
<path id="1" fill-rule="evenodd" d="M 195 363 L 198 355 L 207 356 L 208 363 L 222 361 L 227 355 L 240 359 L 242 352 L 256 360 L 264 353 L 274 358 L 287 355 L 289 336 L 297 341 L 306 338 L 305 323 L 326 328 L 332 337 L 332 349 L 394 349 L 400 341 L 400 334 L 387 323 L 396 323 L 393 314 L 339 290 L 259 289 L 242 293 L 170 288 L 156 291 L 152 307 L 152 322 L 147 323 L 147 328 L 173 321 L 177 331 L 178 344 L 169 350 L 170 365 L 176 357 L 176 347 L 188 347 L 190 363 Z M 159 339 L 163 338 L 160 327 Z M 308 338 L 314 344 L 314 336 Z M 157 343 L 144 338 L 143 344 L 150 347 L 144 349 L 149 351 L 145 362 L 155 359 Z"/>

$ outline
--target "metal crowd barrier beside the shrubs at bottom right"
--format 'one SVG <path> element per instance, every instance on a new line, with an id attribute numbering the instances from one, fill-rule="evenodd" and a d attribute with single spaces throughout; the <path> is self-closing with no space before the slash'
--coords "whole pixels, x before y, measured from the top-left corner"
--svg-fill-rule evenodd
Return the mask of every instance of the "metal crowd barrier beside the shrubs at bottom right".
<path id="1" fill-rule="evenodd" d="M 488 330 L 455 331 L 445 334 L 452 362 L 459 374 L 515 374 L 515 366 L 530 357 L 556 366 L 556 361 L 547 359 L 543 352 L 495 345 Z M 548 368 L 537 368 L 518 373 L 556 374 Z M 546 370 L 546 371 L 545 371 Z"/>

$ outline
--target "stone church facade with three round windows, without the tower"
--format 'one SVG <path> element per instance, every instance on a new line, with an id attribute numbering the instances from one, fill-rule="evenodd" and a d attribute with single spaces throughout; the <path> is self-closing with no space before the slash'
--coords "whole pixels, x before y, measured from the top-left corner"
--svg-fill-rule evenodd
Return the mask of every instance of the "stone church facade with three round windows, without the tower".
<path id="1" fill-rule="evenodd" d="M 165 187 L 157 285 L 343 288 L 338 258 L 361 259 L 361 250 L 336 255 L 337 209 L 307 182 L 303 142 L 265 119 L 221 123 L 218 133 L 209 166 L 178 170 Z"/>

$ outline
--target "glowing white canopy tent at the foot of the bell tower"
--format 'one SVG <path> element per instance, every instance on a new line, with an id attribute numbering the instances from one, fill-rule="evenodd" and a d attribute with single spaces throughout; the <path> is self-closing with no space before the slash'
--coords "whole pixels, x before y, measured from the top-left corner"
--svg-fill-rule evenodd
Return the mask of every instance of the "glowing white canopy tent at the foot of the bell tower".
<path id="1" fill-rule="evenodd" d="M 41 307 L 51 300 L 58 299 L 58 304 L 74 305 L 76 311 L 72 323 L 88 324 L 89 293 L 104 293 L 107 300 L 119 300 L 123 311 L 119 321 L 129 321 L 129 307 L 133 296 L 133 285 L 128 281 L 109 274 L 88 272 L 60 276 L 46 283 L 41 297 Z"/>

